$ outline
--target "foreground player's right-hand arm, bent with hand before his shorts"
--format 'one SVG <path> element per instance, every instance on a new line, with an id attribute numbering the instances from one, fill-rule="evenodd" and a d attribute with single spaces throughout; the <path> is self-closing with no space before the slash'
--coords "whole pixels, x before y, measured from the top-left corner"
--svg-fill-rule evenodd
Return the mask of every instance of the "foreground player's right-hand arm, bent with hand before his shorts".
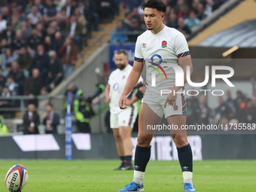
<path id="1" fill-rule="evenodd" d="M 190 75 L 193 72 L 191 56 L 187 55 L 187 56 L 178 58 L 178 63 L 184 72 L 184 84 L 185 84 L 187 82 L 187 66 L 190 66 Z M 166 97 L 166 102 L 164 103 L 164 106 L 163 106 L 164 108 L 166 108 L 167 104 L 176 105 L 177 94 L 174 94 L 174 93 L 177 93 L 180 88 L 181 88 L 180 86 L 175 86 L 175 85 L 172 87 L 172 92 L 169 93 L 169 95 Z"/>

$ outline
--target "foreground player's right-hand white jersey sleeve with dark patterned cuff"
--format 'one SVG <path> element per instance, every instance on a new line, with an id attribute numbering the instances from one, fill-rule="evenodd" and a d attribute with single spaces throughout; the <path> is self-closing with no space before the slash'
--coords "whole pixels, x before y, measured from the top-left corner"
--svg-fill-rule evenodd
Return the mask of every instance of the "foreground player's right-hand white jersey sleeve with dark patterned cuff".
<path id="1" fill-rule="evenodd" d="M 176 56 L 178 58 L 190 55 L 190 52 L 187 46 L 187 40 L 182 33 L 179 33 L 176 36 L 174 41 L 174 49 L 175 49 Z"/>

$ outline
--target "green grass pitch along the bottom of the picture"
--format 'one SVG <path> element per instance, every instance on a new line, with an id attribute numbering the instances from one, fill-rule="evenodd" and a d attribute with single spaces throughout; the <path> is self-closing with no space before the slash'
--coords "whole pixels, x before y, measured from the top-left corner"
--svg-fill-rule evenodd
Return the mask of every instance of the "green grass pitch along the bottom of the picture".
<path id="1" fill-rule="evenodd" d="M 0 160 L 0 191 L 5 175 L 14 164 L 29 172 L 26 191 L 117 191 L 133 179 L 133 171 L 113 171 L 118 160 Z M 255 160 L 194 161 L 197 191 L 256 191 Z M 183 191 L 178 161 L 150 161 L 145 191 Z"/>

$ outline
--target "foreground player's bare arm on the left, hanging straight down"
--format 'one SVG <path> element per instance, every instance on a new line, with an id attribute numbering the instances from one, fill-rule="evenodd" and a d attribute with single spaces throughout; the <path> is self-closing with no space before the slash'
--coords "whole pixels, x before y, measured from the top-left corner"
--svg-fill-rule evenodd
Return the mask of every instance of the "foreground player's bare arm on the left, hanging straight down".
<path id="1" fill-rule="evenodd" d="M 127 78 L 126 85 L 123 89 L 123 93 L 120 96 L 119 107 L 121 109 L 126 108 L 126 96 L 133 90 L 134 87 L 136 87 L 136 84 L 139 81 L 139 77 L 142 74 L 142 70 L 143 63 L 135 60 L 133 62 L 133 69 L 130 72 L 129 77 Z"/>

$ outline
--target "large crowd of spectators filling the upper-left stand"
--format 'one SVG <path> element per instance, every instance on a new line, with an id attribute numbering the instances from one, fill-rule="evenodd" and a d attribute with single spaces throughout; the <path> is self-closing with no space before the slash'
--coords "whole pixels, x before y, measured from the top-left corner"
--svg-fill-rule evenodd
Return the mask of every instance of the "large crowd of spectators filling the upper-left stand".
<path id="1" fill-rule="evenodd" d="M 1 1 L 2 96 L 38 96 L 53 90 L 74 71 L 90 32 L 114 18 L 116 5 L 115 0 Z M 0 107 L 17 105 L 0 101 Z"/>

